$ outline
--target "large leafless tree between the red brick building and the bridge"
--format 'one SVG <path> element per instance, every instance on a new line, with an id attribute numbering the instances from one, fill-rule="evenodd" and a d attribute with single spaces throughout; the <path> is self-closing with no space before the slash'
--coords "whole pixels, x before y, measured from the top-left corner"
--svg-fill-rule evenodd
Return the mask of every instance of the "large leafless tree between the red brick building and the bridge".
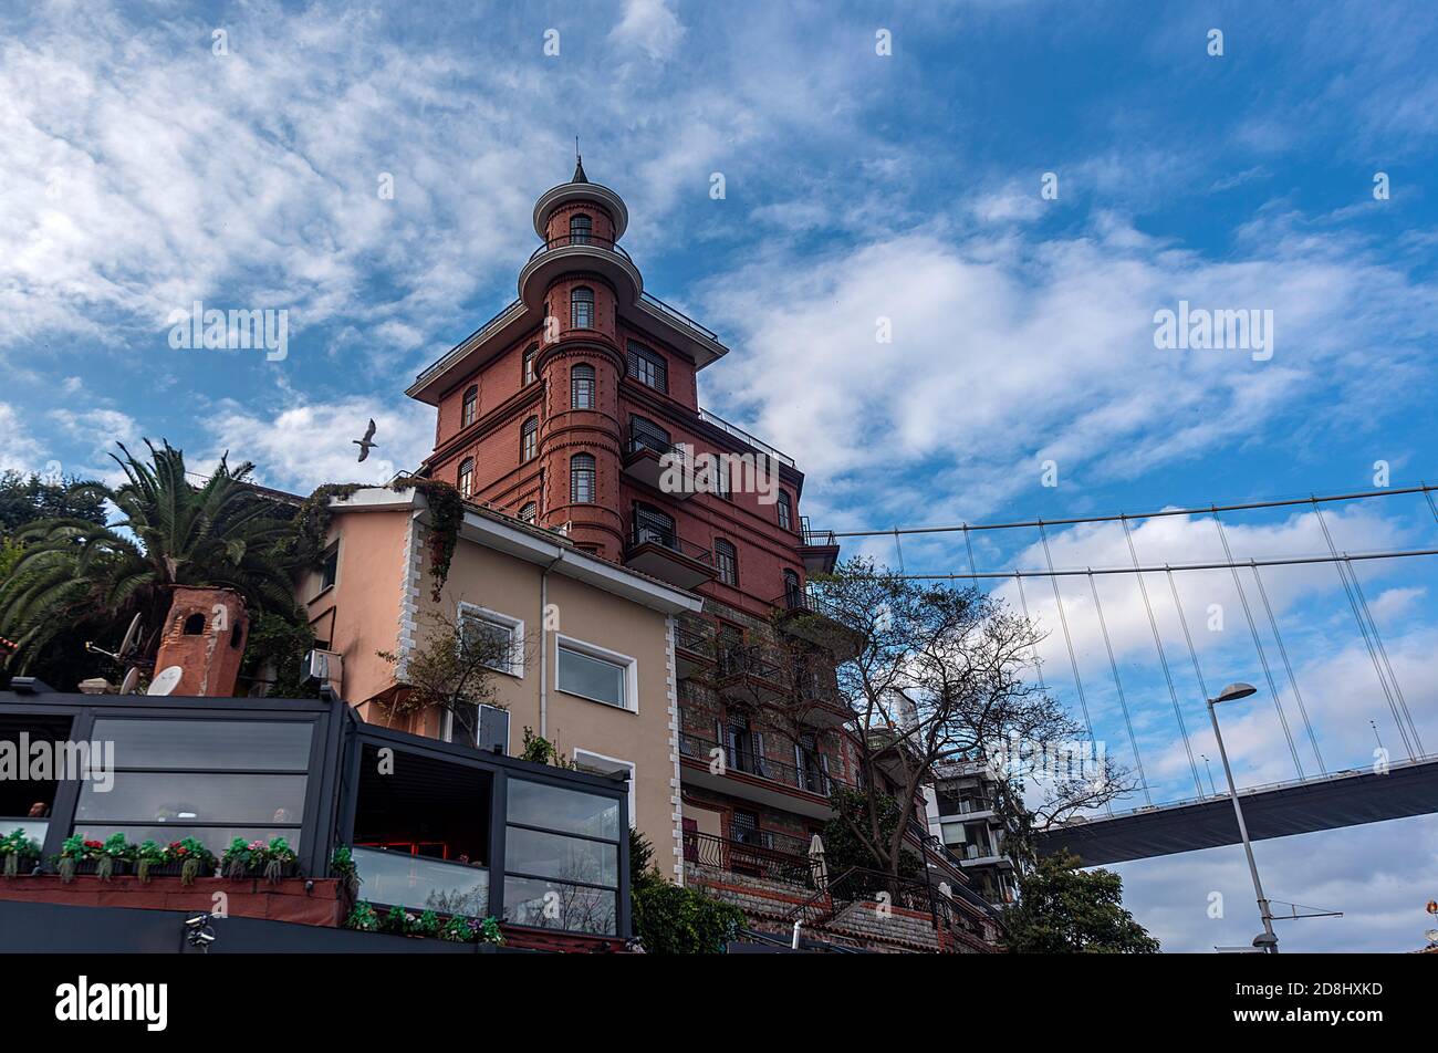
<path id="1" fill-rule="evenodd" d="M 805 695 L 815 656 L 830 656 L 866 788 L 858 806 L 838 808 L 837 819 L 876 869 L 899 873 L 920 790 L 945 760 L 1012 761 L 1014 744 L 1053 757 L 1090 744 L 1084 725 L 1025 676 L 1041 634 L 998 600 L 972 587 L 906 580 L 867 560 L 846 561 L 818 584 L 821 607 L 781 616 L 807 619 L 802 636 L 815 642 L 788 644 L 789 657 L 779 665 L 795 670 L 791 690 L 754 703 L 766 708 L 772 726 L 802 726 L 814 705 L 827 705 Z M 1132 788 L 1112 758 L 1091 754 L 1080 774 L 1053 780 L 1007 764 L 1007 797 L 1022 811 L 1015 821 L 1021 834 Z M 1043 800 L 1025 806 L 1025 781 L 1040 774 Z M 899 806 L 897 823 L 883 800 L 886 788 Z"/>

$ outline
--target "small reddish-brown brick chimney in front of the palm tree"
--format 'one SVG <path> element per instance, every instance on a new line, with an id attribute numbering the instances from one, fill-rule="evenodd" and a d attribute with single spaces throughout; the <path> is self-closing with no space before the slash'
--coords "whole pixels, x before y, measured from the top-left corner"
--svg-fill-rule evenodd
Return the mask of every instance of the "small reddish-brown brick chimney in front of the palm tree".
<path id="1" fill-rule="evenodd" d="M 180 585 L 170 600 L 155 672 L 168 666 L 184 670 L 171 695 L 233 696 L 249 626 L 237 593 Z"/>

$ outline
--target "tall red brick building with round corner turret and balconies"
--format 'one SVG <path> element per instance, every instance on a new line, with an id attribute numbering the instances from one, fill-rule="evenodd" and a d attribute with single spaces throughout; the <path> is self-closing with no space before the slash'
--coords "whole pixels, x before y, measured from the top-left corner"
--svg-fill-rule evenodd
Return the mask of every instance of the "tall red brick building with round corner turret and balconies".
<path id="1" fill-rule="evenodd" d="M 762 702 L 792 689 L 781 666 L 795 640 L 779 634 L 811 624 L 805 577 L 838 548 L 807 529 L 795 462 L 700 407 L 697 374 L 728 348 L 644 291 L 627 224 L 582 165 L 539 197 L 542 243 L 518 299 L 408 388 L 437 410 L 421 472 L 705 598 L 703 616 L 674 623 L 676 878 L 743 888 L 755 926 L 781 931 L 812 892 L 807 853 L 830 793 L 856 781 L 851 714 L 834 656 L 827 676 L 815 666 L 801 726 L 775 726 Z M 765 898 L 772 911 L 755 908 Z"/>

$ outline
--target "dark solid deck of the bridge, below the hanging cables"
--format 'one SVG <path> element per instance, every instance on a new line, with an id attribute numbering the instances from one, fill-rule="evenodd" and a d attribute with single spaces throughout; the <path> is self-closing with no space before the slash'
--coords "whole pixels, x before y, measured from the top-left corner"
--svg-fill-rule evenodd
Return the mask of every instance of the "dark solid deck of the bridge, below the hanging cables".
<path id="1" fill-rule="evenodd" d="M 1438 811 L 1438 757 L 1393 764 L 1388 772 L 1345 771 L 1240 790 L 1252 840 L 1336 830 Z M 1238 844 L 1228 794 L 1068 823 L 1038 837 L 1038 852 L 1068 849 L 1084 866 Z"/>

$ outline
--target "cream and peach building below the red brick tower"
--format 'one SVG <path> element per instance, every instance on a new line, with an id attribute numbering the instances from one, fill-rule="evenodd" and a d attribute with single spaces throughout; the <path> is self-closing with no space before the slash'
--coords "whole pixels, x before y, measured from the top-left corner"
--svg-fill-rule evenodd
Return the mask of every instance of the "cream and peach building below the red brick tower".
<path id="1" fill-rule="evenodd" d="M 316 646 L 341 656 L 338 689 L 360 715 L 393 721 L 384 703 L 401 683 L 378 652 L 410 653 L 430 632 L 429 613 L 509 633 L 515 657 L 492 678 L 479 745 L 518 754 L 528 726 L 581 768 L 627 771 L 631 821 L 660 870 L 682 882 L 674 616 L 699 611 L 699 597 L 466 505 L 436 603 L 420 492 L 362 489 L 334 498 L 331 512 L 325 565 L 301 598 Z M 431 712 L 406 729 L 450 738 L 452 724 Z"/>

